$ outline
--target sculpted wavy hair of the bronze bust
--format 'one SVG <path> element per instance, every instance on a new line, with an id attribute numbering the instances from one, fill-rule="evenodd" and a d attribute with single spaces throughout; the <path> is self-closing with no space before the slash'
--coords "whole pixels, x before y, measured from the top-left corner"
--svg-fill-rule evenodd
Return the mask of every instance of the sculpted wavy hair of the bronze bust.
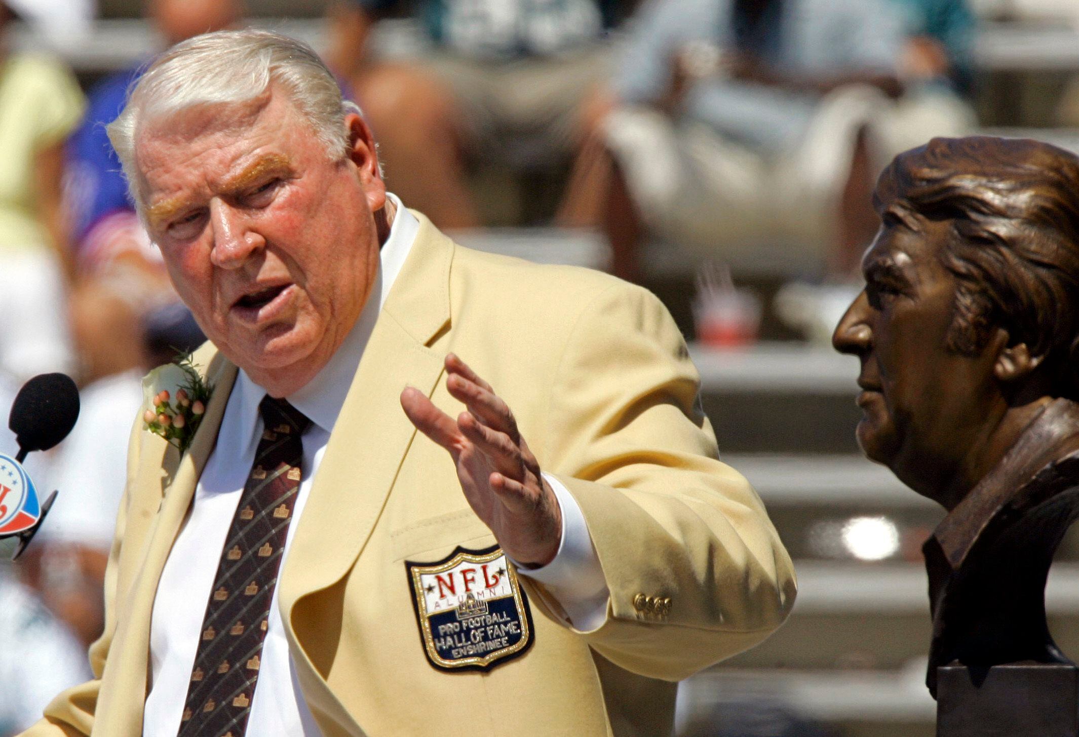
<path id="1" fill-rule="evenodd" d="M 940 254 L 958 279 L 951 347 L 976 353 L 1003 327 L 1079 399 L 1079 158 L 1035 140 L 934 138 L 880 178 L 901 206 L 952 223 Z"/>

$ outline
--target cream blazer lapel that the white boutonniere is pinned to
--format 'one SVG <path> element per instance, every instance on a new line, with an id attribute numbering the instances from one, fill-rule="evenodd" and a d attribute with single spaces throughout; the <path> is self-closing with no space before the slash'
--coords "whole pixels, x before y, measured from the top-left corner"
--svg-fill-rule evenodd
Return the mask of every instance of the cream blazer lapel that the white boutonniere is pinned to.
<path id="1" fill-rule="evenodd" d="M 149 679 L 150 618 L 158 582 L 191 505 L 199 476 L 217 442 L 221 418 L 236 378 L 236 367 L 221 354 L 215 351 L 209 355 L 213 358 L 209 358 L 206 374 L 214 385 L 214 394 L 206 414 L 188 452 L 179 458 L 178 463 L 174 460 L 174 467 L 168 469 L 172 481 L 164 489 L 160 510 L 150 522 L 145 537 L 142 552 L 138 556 L 141 567 L 133 578 L 127 597 L 115 602 L 122 615 L 101 675 L 103 683 L 108 687 L 101 688 L 97 702 L 95 735 L 134 737 L 142 734 L 142 710 Z M 200 357 L 196 354 L 196 360 Z M 166 451 L 165 464 L 169 463 L 168 455 L 175 458 L 175 450 Z M 139 479 L 139 482 L 153 480 L 146 478 Z M 139 697 L 139 694 L 142 696 Z"/>

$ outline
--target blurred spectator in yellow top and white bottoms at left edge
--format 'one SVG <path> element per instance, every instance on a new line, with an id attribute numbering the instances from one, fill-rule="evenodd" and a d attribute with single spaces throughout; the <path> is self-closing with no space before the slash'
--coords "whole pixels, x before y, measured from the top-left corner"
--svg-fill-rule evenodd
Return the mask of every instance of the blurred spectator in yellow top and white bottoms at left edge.
<path id="1" fill-rule="evenodd" d="M 35 6 L 21 3 L 28 13 Z M 8 49 L 14 17 L 0 0 L 0 368 L 18 378 L 71 371 L 63 217 L 64 138 L 82 113 L 71 72 Z"/>

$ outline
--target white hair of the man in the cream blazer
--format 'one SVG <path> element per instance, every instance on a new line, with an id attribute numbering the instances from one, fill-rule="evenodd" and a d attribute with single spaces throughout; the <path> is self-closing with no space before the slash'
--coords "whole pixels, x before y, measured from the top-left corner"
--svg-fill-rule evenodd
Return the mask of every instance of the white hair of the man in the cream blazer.
<path id="1" fill-rule="evenodd" d="M 343 100 L 332 72 L 302 41 L 265 30 L 220 30 L 181 41 L 139 78 L 127 105 L 107 126 L 127 187 L 141 215 L 141 178 L 135 167 L 139 129 L 154 119 L 195 106 L 245 103 L 276 83 L 306 118 L 331 160 L 345 155 L 344 117 L 359 112 Z"/>

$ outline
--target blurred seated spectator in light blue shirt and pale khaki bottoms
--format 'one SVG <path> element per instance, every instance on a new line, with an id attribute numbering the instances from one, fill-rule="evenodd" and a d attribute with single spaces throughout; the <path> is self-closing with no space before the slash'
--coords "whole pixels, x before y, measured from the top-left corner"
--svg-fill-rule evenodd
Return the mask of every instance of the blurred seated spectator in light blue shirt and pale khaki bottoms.
<path id="1" fill-rule="evenodd" d="M 853 271 L 893 140 L 962 129 L 896 99 L 898 0 L 667 0 L 643 10 L 605 122 L 606 226 L 632 277 L 645 231 L 715 257 L 761 243 Z M 929 122 L 932 121 L 932 122 Z M 589 186 L 597 187 L 597 179 Z"/>

